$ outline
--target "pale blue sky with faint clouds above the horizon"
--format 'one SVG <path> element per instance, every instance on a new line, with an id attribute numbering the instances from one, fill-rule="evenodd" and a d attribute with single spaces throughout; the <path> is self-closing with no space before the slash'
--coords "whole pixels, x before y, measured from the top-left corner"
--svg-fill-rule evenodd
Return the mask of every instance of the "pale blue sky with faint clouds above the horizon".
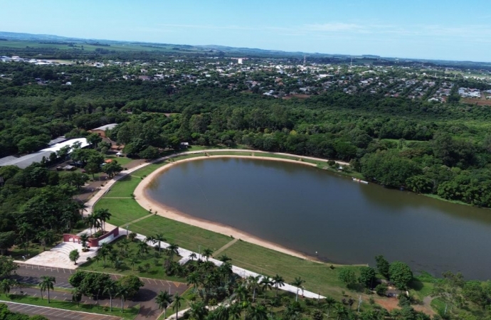
<path id="1" fill-rule="evenodd" d="M 0 31 L 491 61 L 489 0 L 0 0 Z"/>

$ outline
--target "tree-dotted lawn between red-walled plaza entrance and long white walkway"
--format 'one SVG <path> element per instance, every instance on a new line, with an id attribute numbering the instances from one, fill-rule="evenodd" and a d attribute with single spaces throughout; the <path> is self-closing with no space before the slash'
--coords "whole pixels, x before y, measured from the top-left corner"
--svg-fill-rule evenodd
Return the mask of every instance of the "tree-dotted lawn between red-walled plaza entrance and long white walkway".
<path id="1" fill-rule="evenodd" d="M 124 238 L 119 238 L 115 242 L 112 242 L 113 250 L 117 250 L 118 252 L 120 251 L 120 247 L 118 247 L 117 244 L 123 239 Z M 84 263 L 83 265 L 80 265 L 78 269 L 113 274 L 134 274 L 138 277 L 186 282 L 186 280 L 183 278 L 169 277 L 167 274 L 165 274 L 163 265 L 164 260 L 167 259 L 167 255 L 165 255 L 164 250 L 162 250 L 159 255 L 158 250 L 155 250 L 153 247 L 148 247 L 148 252 L 144 252 L 143 255 L 140 255 L 138 242 L 138 240 L 130 242 L 127 249 L 127 257 L 121 255 L 121 257 L 123 257 L 124 265 L 122 265 L 122 267 L 120 267 L 119 269 L 115 269 L 114 267 L 112 267 L 109 260 L 106 261 L 105 267 L 102 260 L 92 260 L 90 262 Z M 130 264 L 130 257 L 137 257 L 138 262 L 136 263 L 136 265 L 132 266 Z M 181 259 L 181 257 L 174 257 L 174 261 L 179 261 L 179 259 Z"/>

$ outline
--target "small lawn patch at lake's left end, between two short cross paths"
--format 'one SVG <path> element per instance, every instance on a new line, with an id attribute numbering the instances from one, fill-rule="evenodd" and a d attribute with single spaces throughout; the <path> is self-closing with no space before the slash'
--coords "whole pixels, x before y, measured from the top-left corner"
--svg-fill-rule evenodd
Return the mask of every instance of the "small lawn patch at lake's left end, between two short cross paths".
<path id="1" fill-rule="evenodd" d="M 102 198 L 95 204 L 95 210 L 109 209 L 112 214 L 107 222 L 118 227 L 125 227 L 126 223 L 142 218 L 149 212 L 139 206 L 133 199 Z"/>

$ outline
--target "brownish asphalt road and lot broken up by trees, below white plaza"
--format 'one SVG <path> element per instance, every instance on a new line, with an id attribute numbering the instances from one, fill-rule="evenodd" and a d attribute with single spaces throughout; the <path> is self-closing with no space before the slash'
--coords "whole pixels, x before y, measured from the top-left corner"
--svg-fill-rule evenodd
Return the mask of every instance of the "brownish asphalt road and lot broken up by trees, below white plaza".
<path id="1" fill-rule="evenodd" d="M 56 278 L 55 287 L 65 288 L 65 289 L 73 289 L 73 287 L 68 282 L 68 278 L 71 274 L 75 273 L 76 270 L 56 268 L 56 267 L 44 267 L 40 265 L 28 265 L 28 264 L 19 264 L 19 269 L 16 271 L 16 279 L 19 282 L 29 283 L 29 284 L 38 284 L 40 282 L 40 277 L 44 275 L 50 275 Z M 120 274 L 111 274 L 112 279 L 119 279 L 122 277 Z M 140 278 L 144 282 L 144 287 L 139 290 L 138 294 L 132 302 L 128 302 L 131 305 L 139 304 L 140 310 L 137 316 L 137 320 L 139 319 L 157 319 L 157 316 L 161 313 L 159 311 L 159 307 L 155 303 L 154 299 L 157 297 L 157 294 L 162 290 L 170 291 L 171 294 L 175 294 L 179 292 L 182 294 L 188 288 L 186 284 L 180 282 L 171 282 L 167 280 L 159 280 L 159 279 L 149 279 L 149 278 Z M 27 289 L 26 289 L 27 290 Z M 37 292 L 39 292 L 38 289 Z M 70 299 L 71 299 L 71 294 Z M 84 299 L 86 299 L 84 297 Z M 89 301 L 87 301 L 89 302 Z M 115 306 L 118 302 L 118 299 L 115 299 L 113 302 L 113 306 Z M 109 299 L 103 299 L 100 304 L 109 305 Z M 121 305 L 120 305 L 121 306 Z"/>

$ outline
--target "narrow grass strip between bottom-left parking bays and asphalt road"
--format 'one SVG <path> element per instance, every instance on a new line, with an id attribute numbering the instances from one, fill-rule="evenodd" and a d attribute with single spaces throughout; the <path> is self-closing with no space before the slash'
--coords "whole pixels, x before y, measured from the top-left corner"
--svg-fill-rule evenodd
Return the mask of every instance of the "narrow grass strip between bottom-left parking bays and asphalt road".
<path id="1" fill-rule="evenodd" d="M 121 309 L 113 308 L 112 312 L 109 311 L 109 308 L 105 306 L 96 306 L 94 304 L 77 304 L 73 302 L 67 302 L 62 300 L 53 300 L 51 299 L 51 303 L 48 304 L 47 299 L 41 299 L 38 297 L 31 296 L 21 296 L 16 294 L 10 294 L 9 298 L 6 299 L 4 295 L 0 297 L 0 301 L 6 302 L 18 302 L 21 304 L 31 304 L 33 306 L 49 306 L 51 308 L 56 309 L 64 309 L 64 310 L 72 310 L 72 311 L 83 311 L 83 312 L 92 312 L 93 314 L 107 314 L 110 316 L 120 316 L 123 319 L 132 320 L 137 316 L 139 311 L 139 305 L 133 306 L 130 309 L 125 309 L 123 313 L 121 313 Z"/>

